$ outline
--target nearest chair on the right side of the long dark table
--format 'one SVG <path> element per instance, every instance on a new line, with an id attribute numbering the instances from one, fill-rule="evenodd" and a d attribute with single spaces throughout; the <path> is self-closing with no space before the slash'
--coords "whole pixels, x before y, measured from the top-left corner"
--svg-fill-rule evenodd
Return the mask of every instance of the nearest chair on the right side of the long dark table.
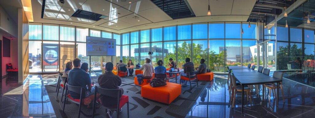
<path id="1" fill-rule="evenodd" d="M 277 78 L 277 79 L 282 79 L 283 77 L 283 72 L 278 72 L 278 71 L 274 71 L 272 77 Z M 283 89 L 282 89 L 282 82 L 280 82 L 280 88 L 281 88 L 281 93 L 282 93 L 282 99 L 284 102 L 284 95 L 283 95 Z M 273 84 L 273 83 L 268 83 L 268 84 L 264 84 L 264 87 L 268 88 L 268 92 L 269 92 L 269 105 L 270 105 L 270 98 L 271 98 L 271 92 L 273 95 L 273 98 L 277 98 L 277 94 L 276 94 L 276 89 L 277 89 L 277 85 Z M 271 91 L 272 90 L 272 91 Z M 264 97 L 264 96 L 263 96 Z"/>

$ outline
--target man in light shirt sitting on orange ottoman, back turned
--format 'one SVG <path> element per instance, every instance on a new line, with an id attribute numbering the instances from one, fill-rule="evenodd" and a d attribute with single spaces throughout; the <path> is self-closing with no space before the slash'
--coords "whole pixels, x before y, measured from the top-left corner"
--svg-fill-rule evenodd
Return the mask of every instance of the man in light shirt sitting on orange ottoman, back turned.
<path id="1" fill-rule="evenodd" d="M 139 70 L 142 70 L 143 71 L 143 74 L 138 74 L 137 75 L 137 79 L 138 79 L 138 82 L 139 82 L 139 85 L 142 84 L 142 80 L 143 79 L 151 79 L 153 74 L 154 73 L 154 68 L 153 66 L 150 64 L 151 62 L 151 59 L 149 58 L 146 58 L 146 64 L 142 65 L 140 67 Z M 149 81 L 148 81 L 149 82 Z"/>

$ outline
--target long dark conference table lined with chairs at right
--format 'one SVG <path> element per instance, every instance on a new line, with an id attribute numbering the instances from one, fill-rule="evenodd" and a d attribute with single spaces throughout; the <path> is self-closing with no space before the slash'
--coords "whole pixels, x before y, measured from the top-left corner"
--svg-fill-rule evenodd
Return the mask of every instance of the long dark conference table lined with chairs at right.
<path id="1" fill-rule="evenodd" d="M 237 68 L 237 67 L 233 67 Z M 241 68 L 241 67 L 239 67 Z M 247 67 L 246 67 L 247 68 Z M 229 67 L 229 69 L 231 69 Z M 239 70 L 244 70 L 243 72 L 240 72 Z M 246 71 L 247 72 L 246 72 Z M 239 72 L 237 72 L 239 71 Z M 256 85 L 256 84 L 266 84 L 266 83 L 277 83 L 277 99 L 276 99 L 276 104 L 278 105 L 279 103 L 279 84 L 282 82 L 282 79 L 277 79 L 271 76 L 267 76 L 265 74 L 262 74 L 258 71 L 252 71 L 252 69 L 232 69 L 232 73 L 235 75 L 236 80 L 241 84 L 242 86 L 242 114 L 243 114 L 243 101 L 244 101 L 244 86 L 245 85 Z M 264 96 L 265 96 L 265 87 L 263 87 L 263 97 L 262 101 L 264 101 Z"/>

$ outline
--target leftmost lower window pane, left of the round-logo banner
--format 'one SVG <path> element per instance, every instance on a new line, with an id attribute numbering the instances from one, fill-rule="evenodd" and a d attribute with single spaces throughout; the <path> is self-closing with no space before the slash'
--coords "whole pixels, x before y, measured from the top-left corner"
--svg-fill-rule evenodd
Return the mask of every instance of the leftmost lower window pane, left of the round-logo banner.
<path id="1" fill-rule="evenodd" d="M 42 41 L 28 42 L 29 71 L 42 72 Z"/>

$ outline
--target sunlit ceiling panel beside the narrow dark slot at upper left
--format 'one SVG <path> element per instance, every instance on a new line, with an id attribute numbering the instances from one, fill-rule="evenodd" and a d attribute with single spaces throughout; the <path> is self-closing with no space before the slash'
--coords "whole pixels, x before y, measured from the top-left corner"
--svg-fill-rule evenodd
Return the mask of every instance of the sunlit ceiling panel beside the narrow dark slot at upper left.
<path id="1" fill-rule="evenodd" d="M 55 19 L 60 11 L 61 7 L 56 5 L 45 5 L 45 19 Z"/>

